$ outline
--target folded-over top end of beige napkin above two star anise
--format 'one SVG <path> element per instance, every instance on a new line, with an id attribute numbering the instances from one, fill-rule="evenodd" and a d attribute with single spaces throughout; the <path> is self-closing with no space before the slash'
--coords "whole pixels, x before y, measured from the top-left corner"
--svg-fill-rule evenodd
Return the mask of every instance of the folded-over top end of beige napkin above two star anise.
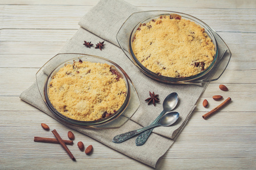
<path id="1" fill-rule="evenodd" d="M 133 12 L 138 11 L 139 8 L 125 1 L 100 1 L 80 19 L 79 25 L 118 46 L 115 36 L 119 28 Z"/>

